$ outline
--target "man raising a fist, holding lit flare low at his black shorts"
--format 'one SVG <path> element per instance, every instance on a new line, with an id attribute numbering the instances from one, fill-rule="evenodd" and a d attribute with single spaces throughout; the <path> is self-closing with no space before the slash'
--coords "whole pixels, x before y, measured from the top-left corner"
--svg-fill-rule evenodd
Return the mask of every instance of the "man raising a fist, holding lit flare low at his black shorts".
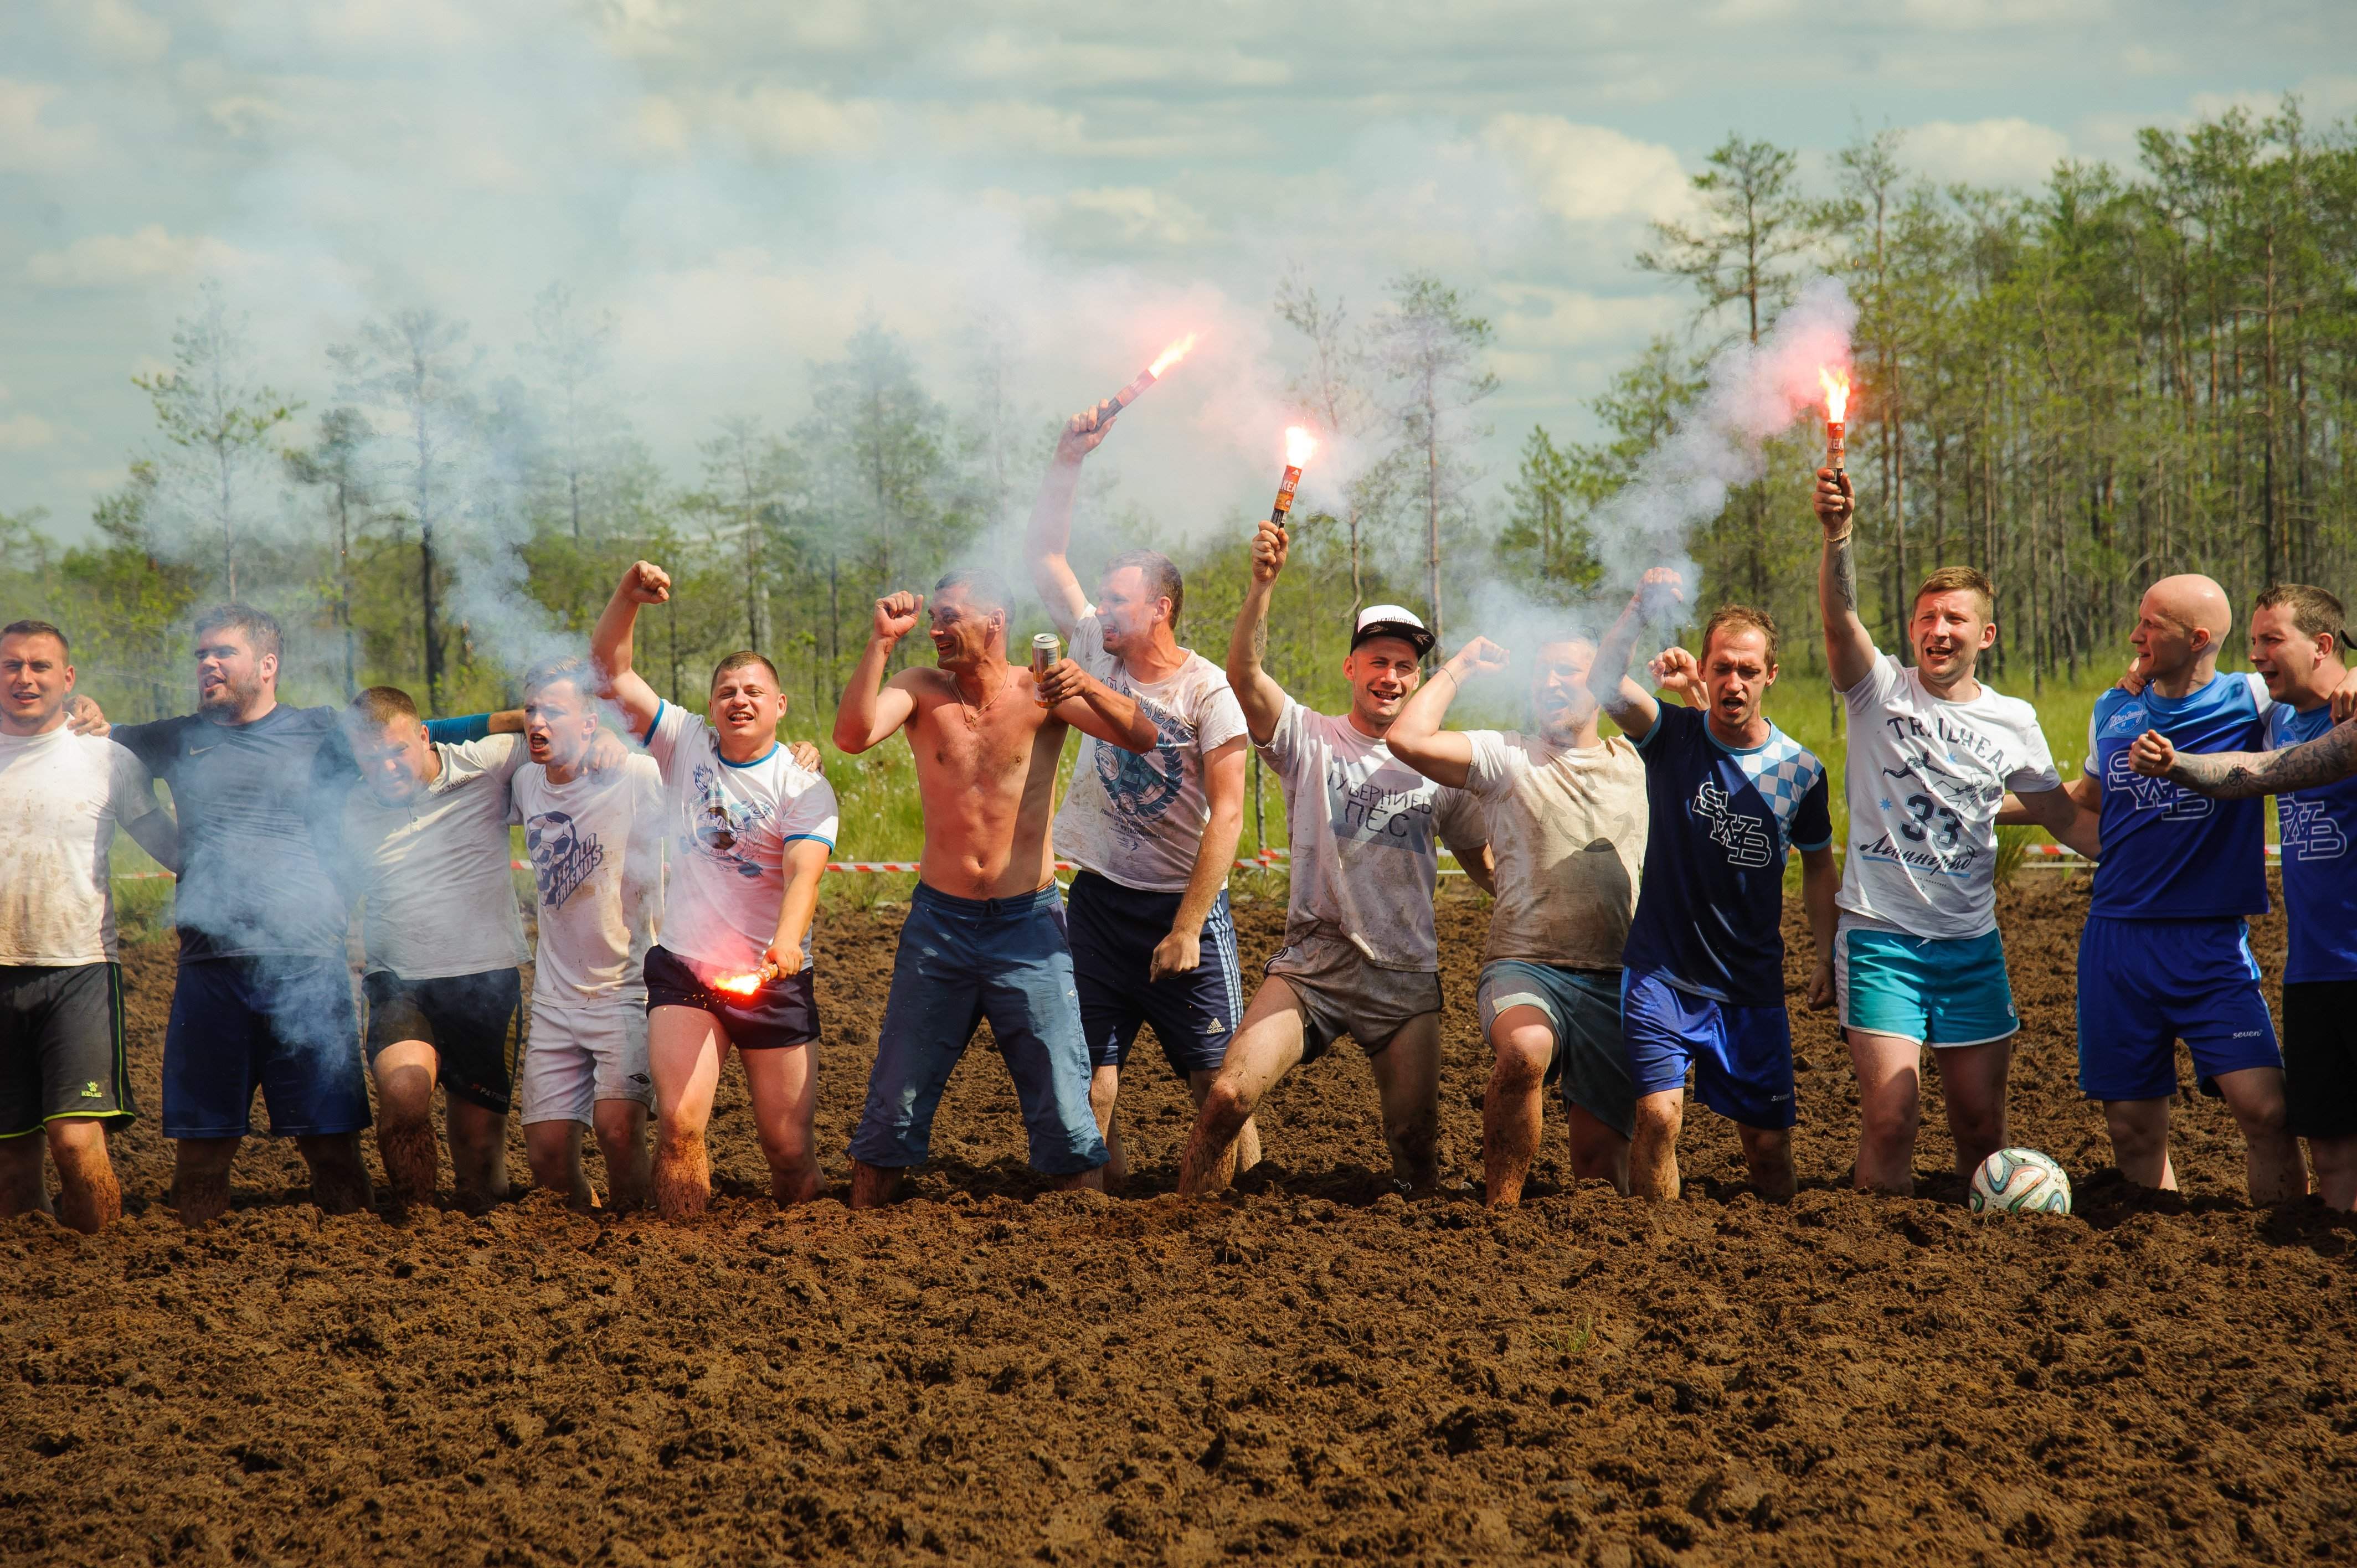
<path id="1" fill-rule="evenodd" d="M 662 941 L 646 950 L 646 1054 L 655 1080 L 655 1207 L 712 1203 L 705 1127 L 721 1066 L 745 1063 L 754 1132 L 778 1205 L 818 1195 L 818 988 L 811 922 L 834 851 L 834 790 L 778 743 L 785 686 L 750 648 L 712 670 L 705 717 L 632 670 L 641 604 L 665 604 L 653 561 L 622 573 L 589 639 L 613 700 L 662 769 L 672 877 Z"/>

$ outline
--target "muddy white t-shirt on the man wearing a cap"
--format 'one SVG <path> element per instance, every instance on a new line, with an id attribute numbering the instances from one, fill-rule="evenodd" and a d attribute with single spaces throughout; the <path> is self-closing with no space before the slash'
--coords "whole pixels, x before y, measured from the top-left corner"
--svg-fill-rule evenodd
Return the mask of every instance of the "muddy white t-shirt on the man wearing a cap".
<path id="1" fill-rule="evenodd" d="M 1339 936 L 1376 969 L 1433 974 L 1435 832 L 1459 858 L 1483 846 L 1483 813 L 1464 790 L 1435 785 L 1358 733 L 1348 714 L 1285 698 L 1261 747 L 1285 780 L 1292 903 L 1285 941 Z"/>

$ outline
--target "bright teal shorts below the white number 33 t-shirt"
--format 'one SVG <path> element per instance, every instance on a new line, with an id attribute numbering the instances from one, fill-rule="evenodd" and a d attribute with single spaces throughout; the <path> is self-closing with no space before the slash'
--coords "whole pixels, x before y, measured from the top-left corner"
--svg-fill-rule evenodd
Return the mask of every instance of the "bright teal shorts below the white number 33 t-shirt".
<path id="1" fill-rule="evenodd" d="M 2022 1028 L 1996 931 L 1945 938 L 1848 927 L 1834 938 L 1834 995 L 1843 1028 L 1935 1049 Z"/>

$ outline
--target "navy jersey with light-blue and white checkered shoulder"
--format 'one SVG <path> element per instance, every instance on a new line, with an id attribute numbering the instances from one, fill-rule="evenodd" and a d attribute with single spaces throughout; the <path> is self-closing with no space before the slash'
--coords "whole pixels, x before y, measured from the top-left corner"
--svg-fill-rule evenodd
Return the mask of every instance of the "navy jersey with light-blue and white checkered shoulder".
<path id="1" fill-rule="evenodd" d="M 1772 724 L 1763 745 L 1721 745 L 1671 703 L 1638 755 L 1652 832 L 1622 962 L 1735 1007 L 1782 1007 L 1784 854 L 1834 842 L 1824 764 Z"/>

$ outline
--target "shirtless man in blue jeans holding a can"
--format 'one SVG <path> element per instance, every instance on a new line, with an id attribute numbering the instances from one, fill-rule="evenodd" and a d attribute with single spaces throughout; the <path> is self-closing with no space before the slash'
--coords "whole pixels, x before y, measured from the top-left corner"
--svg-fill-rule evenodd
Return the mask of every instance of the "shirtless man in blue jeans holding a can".
<path id="1" fill-rule="evenodd" d="M 917 630 L 922 594 L 877 599 L 867 653 L 834 714 L 834 745 L 867 752 L 907 729 L 924 802 L 924 861 L 851 1137 L 851 1207 L 886 1203 L 926 1158 L 933 1111 L 973 1026 L 990 1019 L 1030 1132 L 1032 1170 L 1061 1186 L 1105 1184 L 1105 1139 L 1089 1106 L 1089 1042 L 1080 1033 L 1072 953 L 1056 891 L 1056 757 L 1065 729 L 1150 752 L 1153 717 L 1101 679 L 1058 660 L 1035 681 L 1006 663 L 1006 589 L 978 571 L 933 585 L 938 670 L 884 679 L 893 646 Z"/>

